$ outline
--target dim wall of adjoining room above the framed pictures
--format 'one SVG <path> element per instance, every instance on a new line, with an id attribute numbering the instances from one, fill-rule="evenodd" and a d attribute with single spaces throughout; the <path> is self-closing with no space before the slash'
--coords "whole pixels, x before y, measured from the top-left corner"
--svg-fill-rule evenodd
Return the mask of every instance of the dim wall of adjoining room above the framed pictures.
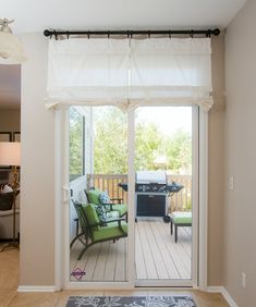
<path id="1" fill-rule="evenodd" d="M 21 131 L 21 110 L 0 109 L 0 132 Z"/>

